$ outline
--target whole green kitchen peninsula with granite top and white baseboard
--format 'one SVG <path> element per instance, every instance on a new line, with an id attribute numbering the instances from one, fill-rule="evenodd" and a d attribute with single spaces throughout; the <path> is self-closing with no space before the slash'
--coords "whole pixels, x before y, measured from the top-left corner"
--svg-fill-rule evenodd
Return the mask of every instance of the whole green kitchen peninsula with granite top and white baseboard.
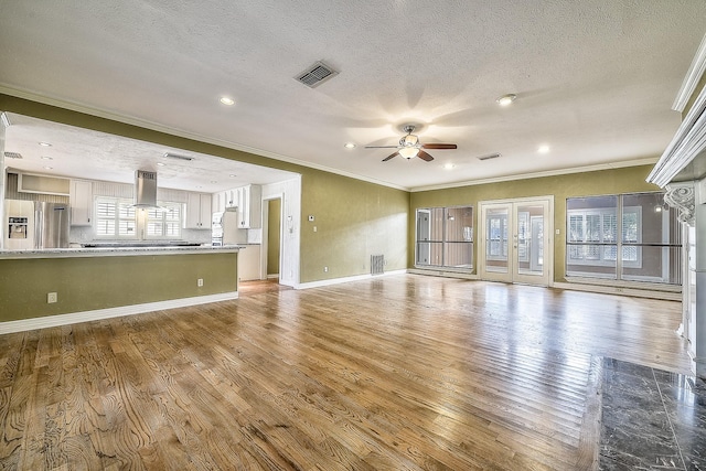
<path id="1" fill-rule="evenodd" d="M 235 299 L 240 248 L 0 250 L 0 333 Z"/>

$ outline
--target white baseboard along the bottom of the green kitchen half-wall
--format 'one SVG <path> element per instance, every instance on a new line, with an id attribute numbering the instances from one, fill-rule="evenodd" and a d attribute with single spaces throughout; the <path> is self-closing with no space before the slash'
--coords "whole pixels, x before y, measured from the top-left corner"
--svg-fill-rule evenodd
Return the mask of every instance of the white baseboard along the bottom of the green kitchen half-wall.
<path id="1" fill-rule="evenodd" d="M 140 314 L 142 312 L 163 309 L 186 308 L 189 306 L 237 299 L 238 292 L 222 292 L 218 295 L 196 296 L 193 298 L 170 299 L 168 301 L 147 302 L 143 304 L 120 306 L 117 308 L 96 309 L 94 311 L 72 312 L 68 314 L 46 315 L 43 318 L 22 319 L 18 321 L 0 322 L 0 334 L 24 332 L 35 329 L 68 325 L 78 322 L 97 321 L 100 319 L 119 318 L 121 315 Z"/>

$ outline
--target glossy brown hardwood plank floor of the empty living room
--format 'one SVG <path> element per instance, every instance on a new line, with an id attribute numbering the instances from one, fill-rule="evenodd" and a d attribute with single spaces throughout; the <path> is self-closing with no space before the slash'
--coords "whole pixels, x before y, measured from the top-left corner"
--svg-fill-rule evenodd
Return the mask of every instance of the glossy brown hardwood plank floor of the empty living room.
<path id="1" fill-rule="evenodd" d="M 681 304 L 415 275 L 0 336 L 0 468 L 582 470 Z"/>

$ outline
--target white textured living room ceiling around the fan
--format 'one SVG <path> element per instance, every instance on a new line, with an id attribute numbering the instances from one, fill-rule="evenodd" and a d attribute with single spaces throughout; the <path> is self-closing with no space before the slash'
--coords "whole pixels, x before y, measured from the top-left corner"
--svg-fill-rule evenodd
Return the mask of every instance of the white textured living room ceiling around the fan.
<path id="1" fill-rule="evenodd" d="M 706 32 L 704 0 L 3 0 L 1 11 L 0 92 L 405 189 L 656 161 Z M 340 74 L 313 89 L 293 78 L 320 60 Z M 517 100 L 499 107 L 507 93 Z M 391 150 L 364 148 L 395 144 L 407 122 L 458 149 L 383 163 Z M 132 171 L 113 146 L 105 172 Z"/>

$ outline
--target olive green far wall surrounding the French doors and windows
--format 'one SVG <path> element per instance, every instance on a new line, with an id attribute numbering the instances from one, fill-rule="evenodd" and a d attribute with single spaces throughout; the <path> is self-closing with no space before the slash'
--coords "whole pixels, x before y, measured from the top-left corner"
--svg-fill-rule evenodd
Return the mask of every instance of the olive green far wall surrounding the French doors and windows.
<path id="1" fill-rule="evenodd" d="M 473 240 L 478 240 L 479 202 L 517 197 L 554 195 L 554 228 L 559 229 L 554 244 L 554 280 L 565 280 L 565 231 L 566 199 L 601 194 L 618 194 L 645 191 L 659 191 L 656 185 L 644 179 L 652 165 L 629 167 L 624 169 L 601 170 L 595 172 L 571 173 L 557 176 L 515 180 L 511 182 L 468 185 L 454 189 L 415 192 L 410 195 L 408 259 L 414 267 L 415 214 L 419 207 L 440 207 L 471 205 L 475 212 Z M 474 244 L 473 260 L 478 260 L 479 244 Z"/>

